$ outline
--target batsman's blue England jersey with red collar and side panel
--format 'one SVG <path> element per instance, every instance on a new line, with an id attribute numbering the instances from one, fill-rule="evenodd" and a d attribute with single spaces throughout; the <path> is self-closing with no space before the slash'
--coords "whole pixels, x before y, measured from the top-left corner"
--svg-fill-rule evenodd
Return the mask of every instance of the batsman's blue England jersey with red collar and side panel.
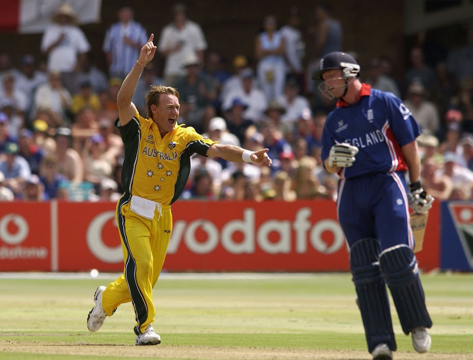
<path id="1" fill-rule="evenodd" d="M 359 153 L 353 166 L 339 172 L 342 179 L 406 171 L 401 147 L 419 135 L 419 125 L 400 99 L 363 83 L 354 104 L 340 99 L 328 114 L 322 135 L 322 160 L 328 158 L 334 144 L 348 143 L 358 147 Z"/>

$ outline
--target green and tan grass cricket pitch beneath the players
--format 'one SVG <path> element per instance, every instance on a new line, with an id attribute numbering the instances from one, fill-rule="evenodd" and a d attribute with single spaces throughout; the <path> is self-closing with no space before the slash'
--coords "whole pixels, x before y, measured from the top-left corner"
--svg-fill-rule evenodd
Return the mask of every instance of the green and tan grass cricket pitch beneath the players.
<path id="1" fill-rule="evenodd" d="M 350 274 L 164 274 L 153 294 L 162 343 L 144 347 L 130 303 L 87 330 L 95 289 L 111 280 L 0 279 L 0 359 L 371 359 Z M 422 282 L 432 349 L 415 353 L 394 311 L 394 359 L 473 359 L 473 274 Z"/>

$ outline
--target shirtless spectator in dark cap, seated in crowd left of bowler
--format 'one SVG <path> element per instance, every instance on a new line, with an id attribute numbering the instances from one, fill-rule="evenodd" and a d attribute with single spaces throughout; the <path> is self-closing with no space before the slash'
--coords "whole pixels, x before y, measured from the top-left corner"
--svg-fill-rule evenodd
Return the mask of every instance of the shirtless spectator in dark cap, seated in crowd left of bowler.
<path id="1" fill-rule="evenodd" d="M 56 145 L 59 173 L 72 182 L 83 180 L 84 168 L 79 153 L 70 148 L 71 132 L 67 127 L 56 129 Z"/>

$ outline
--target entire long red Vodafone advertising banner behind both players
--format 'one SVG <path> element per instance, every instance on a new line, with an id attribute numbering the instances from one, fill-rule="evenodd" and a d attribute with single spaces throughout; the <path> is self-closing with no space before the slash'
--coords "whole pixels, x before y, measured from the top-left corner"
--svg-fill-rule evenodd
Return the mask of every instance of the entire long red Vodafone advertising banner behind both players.
<path id="1" fill-rule="evenodd" d="M 439 267 L 439 204 L 429 212 L 420 268 Z M 0 210 L 0 271 L 122 271 L 114 203 L 9 203 Z M 178 201 L 164 270 L 347 271 L 329 200 Z"/>

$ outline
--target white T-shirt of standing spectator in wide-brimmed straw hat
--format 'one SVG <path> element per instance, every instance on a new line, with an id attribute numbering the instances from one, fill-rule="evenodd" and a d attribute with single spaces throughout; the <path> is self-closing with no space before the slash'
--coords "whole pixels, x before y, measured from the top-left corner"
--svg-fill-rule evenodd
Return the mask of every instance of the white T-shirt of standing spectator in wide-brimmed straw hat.
<path id="1" fill-rule="evenodd" d="M 90 50 L 90 44 L 79 27 L 52 24 L 44 32 L 41 51 L 45 52 L 61 34 L 64 34 L 64 39 L 51 50 L 48 56 L 49 72 L 73 72 L 77 64 L 77 56 Z"/>

